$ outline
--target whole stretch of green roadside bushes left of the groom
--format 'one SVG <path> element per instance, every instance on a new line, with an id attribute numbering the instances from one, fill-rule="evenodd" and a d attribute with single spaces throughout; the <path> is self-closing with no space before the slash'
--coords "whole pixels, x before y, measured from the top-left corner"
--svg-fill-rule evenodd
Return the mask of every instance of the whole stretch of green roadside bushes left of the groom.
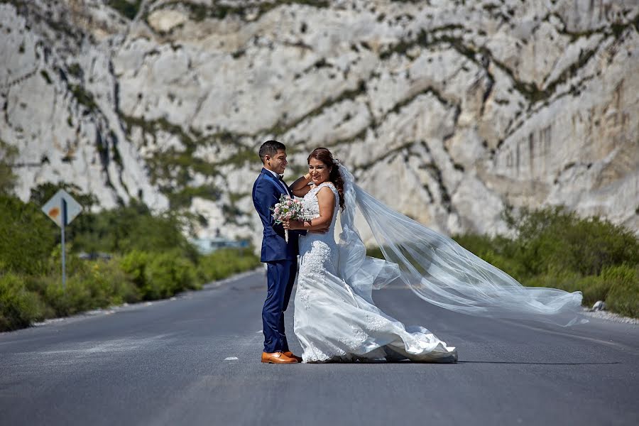
<path id="1" fill-rule="evenodd" d="M 11 175 L 7 176 L 9 185 Z M 186 217 L 153 215 L 144 204 L 131 202 L 99 213 L 85 210 L 67 226 L 70 243 L 63 290 L 60 229 L 40 206 L 59 189 L 70 192 L 87 210 L 96 203 L 95 198 L 83 195 L 74 185 L 44 184 L 33 188 L 32 201 L 25 203 L 2 188 L 0 185 L 0 331 L 122 302 L 170 297 L 201 288 L 204 280 L 225 278 L 258 264 L 248 250 L 219 251 L 200 261 L 200 254 L 182 234 Z M 114 257 L 87 261 L 77 256 L 78 251 Z"/>

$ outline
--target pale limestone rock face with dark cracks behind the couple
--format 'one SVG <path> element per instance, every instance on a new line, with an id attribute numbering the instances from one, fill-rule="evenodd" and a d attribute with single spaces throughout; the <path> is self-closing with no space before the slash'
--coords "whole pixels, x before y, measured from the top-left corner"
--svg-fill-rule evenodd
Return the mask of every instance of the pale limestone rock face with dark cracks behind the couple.
<path id="1" fill-rule="evenodd" d="M 258 240 L 256 151 L 277 138 L 291 181 L 326 146 L 447 234 L 554 204 L 639 231 L 634 0 L 116 3 L 0 4 L 23 198 L 64 180 Z"/>

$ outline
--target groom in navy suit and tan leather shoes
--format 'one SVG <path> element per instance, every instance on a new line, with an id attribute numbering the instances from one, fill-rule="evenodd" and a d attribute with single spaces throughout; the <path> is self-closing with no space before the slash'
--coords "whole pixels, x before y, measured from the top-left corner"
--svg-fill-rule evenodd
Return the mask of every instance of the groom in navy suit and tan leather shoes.
<path id="1" fill-rule="evenodd" d="M 253 184 L 253 204 L 264 226 L 261 261 L 266 263 L 268 293 L 262 309 L 264 351 L 262 362 L 295 364 L 302 361 L 288 349 L 284 332 L 284 311 L 297 273 L 297 239 L 304 231 L 289 231 L 284 239 L 282 224 L 275 224 L 271 207 L 283 194 L 291 195 L 282 180 L 286 165 L 286 147 L 278 141 L 266 141 L 260 147 L 262 171 Z"/>

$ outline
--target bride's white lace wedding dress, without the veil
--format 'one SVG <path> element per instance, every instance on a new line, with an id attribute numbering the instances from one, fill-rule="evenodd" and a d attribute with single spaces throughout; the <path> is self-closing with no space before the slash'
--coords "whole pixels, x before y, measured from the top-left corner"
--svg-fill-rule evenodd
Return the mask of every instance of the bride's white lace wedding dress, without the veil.
<path id="1" fill-rule="evenodd" d="M 295 295 L 295 335 L 304 362 L 410 359 L 455 362 L 457 351 L 424 327 L 405 327 L 361 297 L 338 272 L 339 250 L 334 239 L 339 195 L 324 182 L 304 197 L 305 212 L 320 215 L 317 192 L 329 187 L 336 197 L 326 234 L 300 236 L 300 270 Z"/>

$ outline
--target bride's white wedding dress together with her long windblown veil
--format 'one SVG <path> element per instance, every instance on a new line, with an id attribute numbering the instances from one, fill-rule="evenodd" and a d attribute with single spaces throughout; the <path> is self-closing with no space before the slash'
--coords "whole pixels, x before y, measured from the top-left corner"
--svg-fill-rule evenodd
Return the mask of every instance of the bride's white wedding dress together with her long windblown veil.
<path id="1" fill-rule="evenodd" d="M 338 193 L 332 182 L 323 182 L 303 199 L 307 214 L 318 217 L 317 192 L 329 187 L 336 197 L 329 231 L 300 237 L 295 334 L 305 362 L 457 361 L 457 351 L 430 331 L 405 327 L 376 307 L 372 291 L 396 280 L 422 300 L 466 315 L 563 327 L 587 322 L 581 315 L 581 292 L 524 287 L 449 237 L 376 200 L 355 184 L 342 164 L 339 173 L 344 180 L 339 244 L 334 239 Z M 355 226 L 356 209 L 370 227 L 383 259 L 366 256 Z"/>

